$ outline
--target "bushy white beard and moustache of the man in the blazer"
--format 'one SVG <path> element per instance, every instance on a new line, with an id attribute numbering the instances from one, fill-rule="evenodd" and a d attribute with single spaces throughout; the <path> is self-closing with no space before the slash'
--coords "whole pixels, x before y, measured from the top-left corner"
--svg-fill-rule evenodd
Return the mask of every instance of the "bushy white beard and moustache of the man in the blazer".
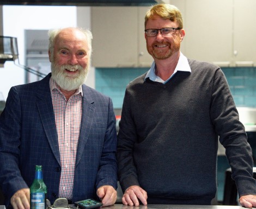
<path id="1" fill-rule="evenodd" d="M 79 71 L 78 75 L 74 77 L 69 76 L 65 73 L 66 69 L 77 69 Z M 86 81 L 87 74 L 89 71 L 89 64 L 86 68 L 81 65 L 61 65 L 56 64 L 55 61 L 51 63 L 52 78 L 59 85 L 60 88 L 66 91 L 72 91 L 79 88 L 84 81 Z"/>

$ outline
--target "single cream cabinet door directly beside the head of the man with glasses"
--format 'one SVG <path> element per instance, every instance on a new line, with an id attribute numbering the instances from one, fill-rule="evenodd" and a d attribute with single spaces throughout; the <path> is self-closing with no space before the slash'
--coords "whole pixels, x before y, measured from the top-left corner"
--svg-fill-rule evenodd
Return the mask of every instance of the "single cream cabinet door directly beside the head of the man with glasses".
<path id="1" fill-rule="evenodd" d="M 233 0 L 187 0 L 184 54 L 187 58 L 231 66 Z"/>

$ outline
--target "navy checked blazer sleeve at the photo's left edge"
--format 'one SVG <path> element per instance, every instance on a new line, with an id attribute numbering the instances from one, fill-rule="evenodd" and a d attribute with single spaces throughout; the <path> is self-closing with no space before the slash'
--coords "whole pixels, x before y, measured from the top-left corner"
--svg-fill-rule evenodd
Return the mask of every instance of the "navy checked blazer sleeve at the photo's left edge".
<path id="1" fill-rule="evenodd" d="M 0 116 L 0 185 L 8 200 L 19 189 L 28 188 L 19 169 L 21 115 L 19 94 L 11 87 Z"/>

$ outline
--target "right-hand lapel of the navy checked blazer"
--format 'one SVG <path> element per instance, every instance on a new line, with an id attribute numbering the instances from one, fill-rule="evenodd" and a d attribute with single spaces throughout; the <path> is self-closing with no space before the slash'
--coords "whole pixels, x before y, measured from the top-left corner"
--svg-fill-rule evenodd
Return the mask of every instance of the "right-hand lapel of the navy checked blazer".
<path id="1" fill-rule="evenodd" d="M 91 126 L 93 124 L 94 118 L 94 99 L 92 97 L 92 93 L 90 89 L 86 85 L 82 85 L 83 90 L 83 113 L 82 113 L 82 121 L 81 121 L 81 129 L 80 136 L 77 145 L 77 154 L 76 154 L 76 166 L 81 160 L 84 146 L 88 140 L 89 132 Z"/>

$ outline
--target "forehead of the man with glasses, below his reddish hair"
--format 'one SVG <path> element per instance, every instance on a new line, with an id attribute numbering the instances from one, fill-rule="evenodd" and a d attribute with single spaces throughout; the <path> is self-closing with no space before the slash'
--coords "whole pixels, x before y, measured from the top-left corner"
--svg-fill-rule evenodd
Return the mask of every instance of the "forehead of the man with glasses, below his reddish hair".
<path id="1" fill-rule="evenodd" d="M 145 26 L 145 29 L 161 29 L 161 28 L 176 28 L 178 23 L 176 21 L 170 21 L 169 19 L 163 19 L 160 16 L 153 16 L 150 18 Z"/>

